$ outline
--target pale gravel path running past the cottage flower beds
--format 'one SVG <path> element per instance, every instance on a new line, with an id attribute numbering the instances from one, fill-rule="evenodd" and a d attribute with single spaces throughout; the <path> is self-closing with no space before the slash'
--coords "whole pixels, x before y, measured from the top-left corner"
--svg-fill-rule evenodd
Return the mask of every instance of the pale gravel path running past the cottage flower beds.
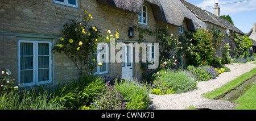
<path id="1" fill-rule="evenodd" d="M 167 95 L 155 95 L 151 94 L 152 109 L 156 110 L 183 110 L 188 106 L 201 106 L 204 105 L 205 102 L 212 102 L 215 100 L 210 100 L 201 97 L 202 94 L 207 93 L 208 91 L 212 91 L 225 85 L 229 81 L 234 80 L 238 76 L 241 76 L 243 73 L 249 72 L 251 69 L 256 68 L 256 64 L 250 64 L 251 62 L 247 62 L 247 64 L 229 64 L 225 65 L 231 69 L 231 72 L 221 73 L 216 79 L 209 81 L 201 81 L 197 84 L 197 89 L 187 91 L 185 93 L 179 94 L 167 94 Z M 221 102 L 221 101 L 218 101 Z M 225 103 L 231 103 L 228 101 L 222 101 Z M 230 105 L 234 105 L 231 103 Z M 218 108 L 215 108 L 218 109 Z"/>

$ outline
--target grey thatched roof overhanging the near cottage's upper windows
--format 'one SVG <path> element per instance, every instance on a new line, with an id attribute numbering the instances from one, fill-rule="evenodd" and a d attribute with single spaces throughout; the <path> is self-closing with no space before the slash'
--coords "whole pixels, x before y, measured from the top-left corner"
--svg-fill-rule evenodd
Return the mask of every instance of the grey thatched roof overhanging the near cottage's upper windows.
<path id="1" fill-rule="evenodd" d="M 194 30 L 191 11 L 179 0 L 97 0 L 97 2 L 136 14 L 141 12 L 143 3 L 147 3 L 152 7 L 156 20 L 181 26 L 185 19 L 191 26 L 189 30 Z"/>

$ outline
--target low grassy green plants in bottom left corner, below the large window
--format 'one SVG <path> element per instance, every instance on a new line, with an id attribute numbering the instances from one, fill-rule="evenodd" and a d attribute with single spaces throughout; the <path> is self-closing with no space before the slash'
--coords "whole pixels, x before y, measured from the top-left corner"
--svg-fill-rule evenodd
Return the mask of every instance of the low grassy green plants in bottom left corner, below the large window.
<path id="1" fill-rule="evenodd" d="M 33 92 L 33 91 L 31 91 Z M 4 93 L 0 94 L 0 110 L 63 110 L 64 102 L 57 102 L 56 97 L 43 93 Z"/>

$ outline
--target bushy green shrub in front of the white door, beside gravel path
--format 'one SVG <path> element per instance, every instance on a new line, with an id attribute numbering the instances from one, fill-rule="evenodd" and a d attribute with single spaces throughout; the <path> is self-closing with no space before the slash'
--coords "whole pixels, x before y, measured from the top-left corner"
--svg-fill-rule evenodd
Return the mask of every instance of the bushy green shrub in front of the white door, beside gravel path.
<path id="1" fill-rule="evenodd" d="M 135 80 L 125 80 L 115 84 L 115 89 L 120 91 L 120 94 L 123 96 L 123 101 L 127 103 L 126 109 L 148 109 L 150 103 L 150 89 L 146 84 L 141 84 Z"/>

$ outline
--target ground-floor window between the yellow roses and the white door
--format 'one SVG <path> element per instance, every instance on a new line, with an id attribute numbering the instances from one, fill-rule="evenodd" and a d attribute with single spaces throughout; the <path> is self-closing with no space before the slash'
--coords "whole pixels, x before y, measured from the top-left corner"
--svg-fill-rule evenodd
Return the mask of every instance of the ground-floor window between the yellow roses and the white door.
<path id="1" fill-rule="evenodd" d="M 106 51 L 103 52 L 102 50 L 105 49 Z M 101 53 L 100 53 L 101 52 Z M 98 64 L 98 61 L 97 61 L 97 55 L 99 55 L 100 57 L 102 57 L 102 59 L 106 59 L 108 60 L 109 59 L 109 53 L 108 53 L 108 44 L 105 44 L 103 45 L 103 47 L 101 49 L 97 49 L 97 53 L 93 53 L 93 59 L 95 59 L 95 62 L 97 62 Z M 105 55 L 106 58 L 105 58 Z M 100 60 L 100 62 L 102 63 L 101 66 L 97 66 L 97 68 L 95 68 L 93 70 L 93 73 L 94 74 L 105 74 L 105 73 L 108 73 L 108 63 L 104 60 Z"/>

